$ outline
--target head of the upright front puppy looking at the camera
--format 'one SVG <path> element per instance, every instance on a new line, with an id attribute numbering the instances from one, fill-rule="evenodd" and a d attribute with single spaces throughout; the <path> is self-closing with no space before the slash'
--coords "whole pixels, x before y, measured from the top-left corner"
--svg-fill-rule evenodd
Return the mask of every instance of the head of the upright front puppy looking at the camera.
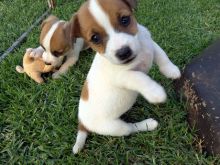
<path id="1" fill-rule="evenodd" d="M 135 6 L 135 0 L 89 0 L 75 16 L 74 34 L 112 63 L 127 64 L 139 49 Z"/>

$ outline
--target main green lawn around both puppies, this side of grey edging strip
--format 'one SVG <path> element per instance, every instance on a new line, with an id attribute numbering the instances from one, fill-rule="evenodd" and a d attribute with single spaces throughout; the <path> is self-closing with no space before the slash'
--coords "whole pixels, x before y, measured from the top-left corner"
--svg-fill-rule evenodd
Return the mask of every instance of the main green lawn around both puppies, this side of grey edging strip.
<path id="1" fill-rule="evenodd" d="M 53 13 L 69 19 L 81 2 L 66 1 Z M 220 37 L 219 10 L 219 0 L 139 0 L 135 15 L 183 68 Z M 185 102 L 176 98 L 171 80 L 156 67 L 150 74 L 165 87 L 168 101 L 154 106 L 139 97 L 124 118 L 153 117 L 159 128 L 120 138 L 92 134 L 84 150 L 73 156 L 80 91 L 94 53 L 83 52 L 62 79 L 37 85 L 16 73 L 15 66 L 27 47 L 38 45 L 38 37 L 36 28 L 0 65 L 0 164 L 220 164 L 220 157 L 207 156 L 195 147 L 198 142 L 186 122 Z"/>

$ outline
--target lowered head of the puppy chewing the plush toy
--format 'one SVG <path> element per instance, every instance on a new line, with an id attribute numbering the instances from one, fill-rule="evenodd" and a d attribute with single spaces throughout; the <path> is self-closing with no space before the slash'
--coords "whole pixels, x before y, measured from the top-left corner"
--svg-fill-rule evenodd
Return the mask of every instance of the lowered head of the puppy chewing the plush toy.
<path id="1" fill-rule="evenodd" d="M 71 27 L 69 22 L 60 21 L 53 15 L 42 22 L 40 44 L 45 50 L 43 60 L 46 63 L 60 65 L 62 56 L 72 49 Z"/>

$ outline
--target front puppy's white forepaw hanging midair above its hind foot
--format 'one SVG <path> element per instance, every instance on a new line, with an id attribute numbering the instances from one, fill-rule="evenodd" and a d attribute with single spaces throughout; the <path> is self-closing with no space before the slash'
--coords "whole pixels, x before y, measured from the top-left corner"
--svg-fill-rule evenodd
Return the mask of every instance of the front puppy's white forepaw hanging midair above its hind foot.
<path id="1" fill-rule="evenodd" d="M 146 90 L 144 94 L 145 98 L 153 104 L 163 103 L 166 101 L 167 95 L 162 86 L 154 84 L 151 90 Z"/>

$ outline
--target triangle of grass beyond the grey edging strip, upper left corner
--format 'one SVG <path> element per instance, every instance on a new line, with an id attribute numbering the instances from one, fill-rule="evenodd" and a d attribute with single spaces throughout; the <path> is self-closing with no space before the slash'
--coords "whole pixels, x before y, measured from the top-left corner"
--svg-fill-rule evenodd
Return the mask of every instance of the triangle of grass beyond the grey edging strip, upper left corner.
<path id="1" fill-rule="evenodd" d="M 0 1 L 0 55 L 26 31 L 47 8 L 46 1 Z"/>

